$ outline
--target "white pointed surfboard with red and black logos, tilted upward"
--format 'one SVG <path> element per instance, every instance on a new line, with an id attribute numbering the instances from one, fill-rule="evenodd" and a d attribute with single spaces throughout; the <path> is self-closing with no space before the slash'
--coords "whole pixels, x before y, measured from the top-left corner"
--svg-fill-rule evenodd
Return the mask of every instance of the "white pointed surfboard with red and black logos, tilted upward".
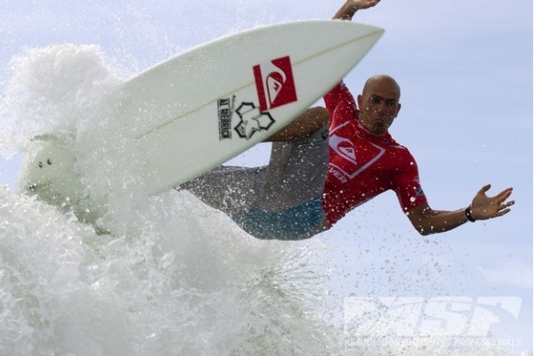
<path id="1" fill-rule="evenodd" d="M 336 85 L 383 32 L 350 21 L 297 21 L 181 53 L 125 82 L 109 99 L 114 124 L 106 130 L 114 142 L 101 142 L 102 159 L 120 162 L 134 151 L 136 173 L 149 194 L 188 182 L 291 122 Z M 61 149 L 54 158 L 53 144 L 46 139 L 43 152 L 25 158 L 20 184 L 52 190 L 50 177 L 70 169 L 43 164 L 48 156 L 53 162 L 66 157 Z M 44 168 L 57 172 L 43 174 Z"/>

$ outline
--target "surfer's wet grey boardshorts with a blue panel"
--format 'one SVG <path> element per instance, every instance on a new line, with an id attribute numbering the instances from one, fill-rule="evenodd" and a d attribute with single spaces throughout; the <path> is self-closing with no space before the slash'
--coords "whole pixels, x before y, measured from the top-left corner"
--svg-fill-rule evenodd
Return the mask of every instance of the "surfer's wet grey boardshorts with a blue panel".
<path id="1" fill-rule="evenodd" d="M 306 112 L 315 117 L 313 125 L 322 123 L 325 113 L 328 117 L 322 108 Z M 258 239 L 305 239 L 324 228 L 321 198 L 327 170 L 328 126 L 323 125 L 299 140 L 294 135 L 293 142 L 273 142 L 269 166 L 220 167 L 182 189 Z"/>

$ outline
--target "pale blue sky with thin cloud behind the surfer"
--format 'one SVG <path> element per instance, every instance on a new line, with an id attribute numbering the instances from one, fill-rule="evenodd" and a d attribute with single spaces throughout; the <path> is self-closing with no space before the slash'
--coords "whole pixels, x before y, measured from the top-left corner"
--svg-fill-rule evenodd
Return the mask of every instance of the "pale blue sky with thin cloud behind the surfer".
<path id="1" fill-rule="evenodd" d="M 4 88 L 12 56 L 27 47 L 98 44 L 117 73 L 127 77 L 230 32 L 328 19 L 342 2 L 0 4 Z M 528 340 L 520 331 L 532 315 L 531 0 L 383 0 L 354 20 L 385 28 L 385 34 L 345 82 L 357 94 L 371 75 L 387 73 L 398 80 L 402 109 L 391 133 L 417 159 L 430 205 L 465 207 L 488 182 L 490 193 L 514 187 L 516 205 L 504 218 L 428 238 L 417 235 L 392 193 L 360 206 L 320 237 L 344 271 L 336 279 L 340 294 L 520 296 L 520 320 L 506 327 L 531 349 L 531 335 Z M 261 145 L 235 161 L 254 166 L 266 162 L 267 155 L 268 147 Z M 0 183 L 12 187 L 17 169 L 17 155 L 0 159 Z M 380 273 L 389 270 L 395 272 Z M 361 271 L 378 272 L 368 278 Z M 430 284 L 409 284 L 401 276 L 422 271 L 432 276 Z"/>

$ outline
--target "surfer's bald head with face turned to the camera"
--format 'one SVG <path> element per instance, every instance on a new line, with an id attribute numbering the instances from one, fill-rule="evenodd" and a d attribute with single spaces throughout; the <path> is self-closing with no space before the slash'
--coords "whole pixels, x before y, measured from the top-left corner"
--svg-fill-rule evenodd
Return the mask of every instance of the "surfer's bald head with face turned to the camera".
<path id="1" fill-rule="evenodd" d="M 360 123 L 371 134 L 385 134 L 401 110 L 401 87 L 385 75 L 368 78 L 358 95 Z"/>

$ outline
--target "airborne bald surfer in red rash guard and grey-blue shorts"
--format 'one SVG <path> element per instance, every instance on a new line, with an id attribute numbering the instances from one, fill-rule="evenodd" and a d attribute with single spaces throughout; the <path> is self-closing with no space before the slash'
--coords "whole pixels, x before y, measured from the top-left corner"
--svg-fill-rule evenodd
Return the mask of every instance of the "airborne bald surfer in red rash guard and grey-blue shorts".
<path id="1" fill-rule="evenodd" d="M 347 0 L 334 20 L 380 0 Z M 468 206 L 434 210 L 419 182 L 416 160 L 388 129 L 401 110 L 401 88 L 389 76 L 370 77 L 354 99 L 340 83 L 324 97 L 326 108 L 306 110 L 271 137 L 268 166 L 222 166 L 182 185 L 258 239 L 307 239 L 332 227 L 356 206 L 393 190 L 402 211 L 422 235 L 510 211 L 512 188 Z"/>

